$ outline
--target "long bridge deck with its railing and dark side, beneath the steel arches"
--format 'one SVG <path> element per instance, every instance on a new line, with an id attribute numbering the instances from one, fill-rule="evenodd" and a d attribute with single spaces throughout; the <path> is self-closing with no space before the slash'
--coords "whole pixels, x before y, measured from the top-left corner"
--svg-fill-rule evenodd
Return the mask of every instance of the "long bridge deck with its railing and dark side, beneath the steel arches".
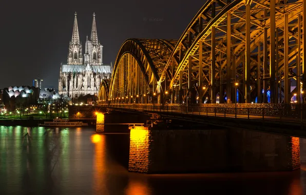
<path id="1" fill-rule="evenodd" d="M 108 104 L 114 110 L 157 113 L 165 118 L 187 120 L 230 128 L 249 129 L 306 138 L 304 110 L 275 108 L 222 108 Z"/>

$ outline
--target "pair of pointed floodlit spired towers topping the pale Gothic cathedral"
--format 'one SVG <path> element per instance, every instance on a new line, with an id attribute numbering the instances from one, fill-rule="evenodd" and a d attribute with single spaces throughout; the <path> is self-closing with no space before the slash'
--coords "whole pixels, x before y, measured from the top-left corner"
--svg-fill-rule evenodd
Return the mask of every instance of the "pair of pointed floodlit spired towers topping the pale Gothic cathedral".
<path id="1" fill-rule="evenodd" d="M 74 13 L 74 23 L 72 30 L 72 38 L 69 46 L 68 64 L 83 64 L 82 45 L 80 42 L 78 19 L 76 18 L 76 12 Z M 95 23 L 95 13 L 92 14 L 92 28 L 90 41 L 86 38 L 85 44 L 85 64 L 102 64 L 102 51 L 103 46 L 100 45 L 97 33 L 97 24 Z M 79 56 L 79 57 L 76 57 Z"/>

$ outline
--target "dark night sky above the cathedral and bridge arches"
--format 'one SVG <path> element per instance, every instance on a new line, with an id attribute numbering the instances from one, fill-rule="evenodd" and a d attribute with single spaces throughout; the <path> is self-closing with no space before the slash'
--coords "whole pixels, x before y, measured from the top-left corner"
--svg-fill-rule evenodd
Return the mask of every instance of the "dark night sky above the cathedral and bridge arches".
<path id="1" fill-rule="evenodd" d="M 110 64 L 127 38 L 178 39 L 204 3 L 199 0 L 3 0 L 0 88 L 32 85 L 37 75 L 44 79 L 44 86 L 58 88 L 60 64 L 67 62 L 74 11 L 78 13 L 83 51 L 95 12 L 98 38 L 104 46 L 103 63 Z M 161 22 L 150 22 L 149 18 Z"/>

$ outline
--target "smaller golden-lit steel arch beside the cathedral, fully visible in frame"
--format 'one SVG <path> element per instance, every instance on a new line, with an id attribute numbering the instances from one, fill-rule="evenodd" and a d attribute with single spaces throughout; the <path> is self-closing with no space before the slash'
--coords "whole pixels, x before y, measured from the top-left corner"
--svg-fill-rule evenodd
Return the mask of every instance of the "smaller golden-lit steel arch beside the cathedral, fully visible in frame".
<path id="1" fill-rule="evenodd" d="M 126 40 L 117 55 L 110 83 L 111 103 L 157 101 L 156 89 L 175 40 Z"/>

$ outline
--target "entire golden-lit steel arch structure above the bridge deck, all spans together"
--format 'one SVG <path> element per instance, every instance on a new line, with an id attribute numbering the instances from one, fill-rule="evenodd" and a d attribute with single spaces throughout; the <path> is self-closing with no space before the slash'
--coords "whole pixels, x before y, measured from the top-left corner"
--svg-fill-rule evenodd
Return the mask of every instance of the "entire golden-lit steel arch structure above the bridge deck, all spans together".
<path id="1" fill-rule="evenodd" d="M 99 101 L 290 103 L 306 85 L 305 12 L 305 0 L 207 1 L 179 40 L 126 40 Z"/>

